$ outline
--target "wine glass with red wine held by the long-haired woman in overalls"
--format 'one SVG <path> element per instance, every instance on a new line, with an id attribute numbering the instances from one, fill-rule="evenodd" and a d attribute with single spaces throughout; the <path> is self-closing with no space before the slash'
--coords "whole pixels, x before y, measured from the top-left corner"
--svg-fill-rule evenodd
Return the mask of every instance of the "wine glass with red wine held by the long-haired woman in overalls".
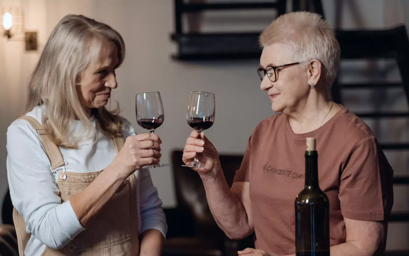
<path id="1" fill-rule="evenodd" d="M 159 91 L 137 93 L 135 107 L 138 125 L 153 134 L 155 129 L 160 127 L 165 119 L 162 98 L 160 98 Z M 164 166 L 168 166 L 168 164 L 145 165 L 142 168 L 147 169 Z"/>

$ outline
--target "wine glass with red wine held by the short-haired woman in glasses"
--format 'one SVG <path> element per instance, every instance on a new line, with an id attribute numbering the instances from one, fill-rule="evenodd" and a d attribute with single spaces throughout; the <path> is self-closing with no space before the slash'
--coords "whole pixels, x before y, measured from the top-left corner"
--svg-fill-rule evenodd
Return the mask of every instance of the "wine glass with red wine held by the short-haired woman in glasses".
<path id="1" fill-rule="evenodd" d="M 190 127 L 195 129 L 199 135 L 203 130 L 209 129 L 213 125 L 215 111 L 214 93 L 203 91 L 191 92 L 186 119 Z M 200 165 L 197 154 L 190 165 L 182 166 L 209 169 L 209 167 Z"/>

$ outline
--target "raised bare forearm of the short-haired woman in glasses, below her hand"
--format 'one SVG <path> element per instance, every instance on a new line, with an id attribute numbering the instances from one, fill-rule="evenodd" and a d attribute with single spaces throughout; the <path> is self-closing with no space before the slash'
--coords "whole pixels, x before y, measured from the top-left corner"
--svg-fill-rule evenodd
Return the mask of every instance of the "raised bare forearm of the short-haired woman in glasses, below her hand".
<path id="1" fill-rule="evenodd" d="M 229 238 L 245 238 L 253 232 L 246 210 L 227 185 L 223 170 L 217 165 L 207 175 L 200 176 L 207 202 L 218 226 Z"/>

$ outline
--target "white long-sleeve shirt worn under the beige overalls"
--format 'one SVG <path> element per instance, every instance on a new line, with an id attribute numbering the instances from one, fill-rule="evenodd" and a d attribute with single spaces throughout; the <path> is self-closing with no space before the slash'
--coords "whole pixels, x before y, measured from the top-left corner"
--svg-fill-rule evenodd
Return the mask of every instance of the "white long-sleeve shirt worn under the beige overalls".
<path id="1" fill-rule="evenodd" d="M 27 116 L 40 123 L 45 113 L 38 106 Z M 95 125 L 96 120 L 90 119 Z M 83 136 L 86 130 L 81 121 L 73 120 L 72 134 Z M 135 135 L 132 125 L 126 121 L 124 139 Z M 60 148 L 67 162 L 65 170 L 74 173 L 101 171 L 108 167 L 116 156 L 112 140 L 97 133 L 80 142 L 76 149 Z M 84 230 L 76 217 L 70 201 L 61 203 L 58 196 L 58 174 L 50 171 L 50 161 L 45 154 L 40 137 L 26 120 L 14 121 L 7 130 L 7 176 L 11 200 L 24 217 L 31 238 L 25 249 L 26 256 L 40 256 L 45 247 L 61 248 Z M 153 186 L 149 169 L 135 171 L 137 180 L 139 232 L 158 229 L 166 236 L 167 225 L 162 201 Z"/>

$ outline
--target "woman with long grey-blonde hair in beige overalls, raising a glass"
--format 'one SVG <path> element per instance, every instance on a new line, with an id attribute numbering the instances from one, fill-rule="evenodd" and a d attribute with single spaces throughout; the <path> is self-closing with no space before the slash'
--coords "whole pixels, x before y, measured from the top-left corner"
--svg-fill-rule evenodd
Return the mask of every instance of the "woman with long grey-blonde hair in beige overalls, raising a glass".
<path id="1" fill-rule="evenodd" d="M 68 15 L 52 31 L 7 131 L 20 256 L 161 254 L 162 202 L 141 168 L 161 140 L 105 107 L 124 58 L 106 24 Z"/>

